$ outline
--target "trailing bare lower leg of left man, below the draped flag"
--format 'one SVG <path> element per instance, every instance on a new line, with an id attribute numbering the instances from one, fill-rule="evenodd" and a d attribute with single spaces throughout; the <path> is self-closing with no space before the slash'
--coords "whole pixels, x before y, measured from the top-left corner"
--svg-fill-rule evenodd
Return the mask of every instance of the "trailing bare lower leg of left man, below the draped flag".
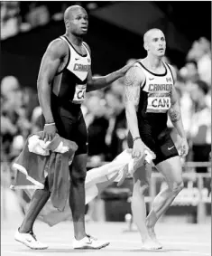
<path id="1" fill-rule="evenodd" d="M 31 203 L 27 212 L 25 213 L 23 223 L 19 228 L 19 232 L 22 233 L 32 231 L 33 223 L 50 196 L 51 193 L 49 191 L 48 180 L 46 179 L 44 189 L 37 189 L 32 195 Z"/>

